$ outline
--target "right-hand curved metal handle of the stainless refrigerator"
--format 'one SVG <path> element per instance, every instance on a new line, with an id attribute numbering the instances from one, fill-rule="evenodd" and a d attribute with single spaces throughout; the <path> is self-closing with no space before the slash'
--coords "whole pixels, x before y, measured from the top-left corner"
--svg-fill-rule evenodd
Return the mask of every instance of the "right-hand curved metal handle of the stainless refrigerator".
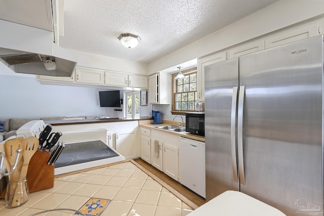
<path id="1" fill-rule="evenodd" d="M 239 87 L 237 111 L 237 154 L 239 181 L 245 185 L 244 160 L 243 160 L 243 111 L 244 111 L 245 86 Z"/>

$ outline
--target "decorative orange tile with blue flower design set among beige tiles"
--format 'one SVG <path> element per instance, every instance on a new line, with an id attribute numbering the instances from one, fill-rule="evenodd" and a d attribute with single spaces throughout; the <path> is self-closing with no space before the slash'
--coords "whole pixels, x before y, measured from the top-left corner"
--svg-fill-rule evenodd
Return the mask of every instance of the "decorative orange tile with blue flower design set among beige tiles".
<path id="1" fill-rule="evenodd" d="M 109 205 L 110 199 L 98 199 L 90 198 L 82 207 L 78 210 L 84 213 L 86 216 L 100 216 L 100 214 Z"/>

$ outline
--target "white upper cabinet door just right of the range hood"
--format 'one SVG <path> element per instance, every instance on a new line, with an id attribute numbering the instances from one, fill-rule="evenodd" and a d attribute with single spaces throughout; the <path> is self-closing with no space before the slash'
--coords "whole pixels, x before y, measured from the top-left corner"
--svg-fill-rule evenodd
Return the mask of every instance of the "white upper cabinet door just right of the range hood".
<path id="1" fill-rule="evenodd" d="M 104 84 L 104 71 L 94 69 L 76 68 L 76 82 Z"/>

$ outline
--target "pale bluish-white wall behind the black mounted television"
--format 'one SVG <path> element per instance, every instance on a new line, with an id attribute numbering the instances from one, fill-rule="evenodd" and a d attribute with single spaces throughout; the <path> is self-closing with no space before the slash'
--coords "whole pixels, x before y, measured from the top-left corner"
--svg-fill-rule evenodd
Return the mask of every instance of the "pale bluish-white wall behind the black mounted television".
<path id="1" fill-rule="evenodd" d="M 114 108 L 109 107 L 106 112 L 99 104 L 98 92 L 107 89 L 42 85 L 34 77 L 8 75 L 0 75 L 0 83 L 0 118 L 114 114 Z"/>

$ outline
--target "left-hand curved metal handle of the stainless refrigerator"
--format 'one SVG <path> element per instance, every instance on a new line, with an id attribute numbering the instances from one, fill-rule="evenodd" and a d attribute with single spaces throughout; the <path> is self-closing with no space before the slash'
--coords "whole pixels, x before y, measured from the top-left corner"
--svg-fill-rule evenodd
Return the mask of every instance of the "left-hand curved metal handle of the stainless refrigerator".
<path id="1" fill-rule="evenodd" d="M 236 106 L 237 106 L 237 87 L 233 87 L 232 108 L 231 108 L 231 153 L 233 179 L 238 182 L 237 161 L 236 161 Z"/>

